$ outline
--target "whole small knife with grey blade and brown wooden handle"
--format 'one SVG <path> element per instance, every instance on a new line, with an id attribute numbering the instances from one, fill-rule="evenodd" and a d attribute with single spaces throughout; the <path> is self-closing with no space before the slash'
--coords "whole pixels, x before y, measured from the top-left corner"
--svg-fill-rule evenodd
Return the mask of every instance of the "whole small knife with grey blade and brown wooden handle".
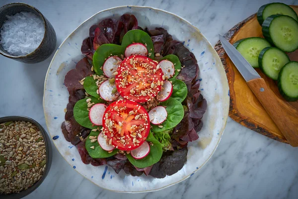
<path id="1" fill-rule="evenodd" d="M 283 108 L 285 106 L 284 101 L 279 99 L 274 92 L 267 87 L 265 80 L 260 77 L 246 59 L 222 35 L 219 36 L 226 54 L 234 63 L 248 87 L 261 102 L 289 143 L 297 147 L 298 119 L 295 118 L 294 114 L 287 111 L 286 108 Z"/>

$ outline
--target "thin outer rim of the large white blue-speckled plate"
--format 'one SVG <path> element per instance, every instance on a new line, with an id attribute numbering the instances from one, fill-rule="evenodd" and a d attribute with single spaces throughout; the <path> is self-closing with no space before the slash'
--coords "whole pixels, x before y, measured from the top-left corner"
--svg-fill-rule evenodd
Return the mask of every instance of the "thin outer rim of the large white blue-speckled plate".
<path id="1" fill-rule="evenodd" d="M 159 9 L 159 8 L 154 8 L 154 7 L 150 7 L 150 6 L 139 6 L 139 5 L 122 5 L 122 6 L 116 6 L 116 7 L 111 7 L 111 8 L 108 8 L 108 9 L 104 9 L 104 10 L 101 10 L 101 11 L 99 11 L 99 12 L 97 12 L 97 13 L 95 13 L 95 14 L 93 14 L 92 16 L 90 16 L 88 19 L 86 19 L 85 21 L 83 21 L 80 25 L 78 25 L 75 29 L 74 29 L 74 31 L 76 30 L 76 29 L 78 29 L 83 23 L 85 23 L 86 21 L 88 21 L 89 19 L 91 19 L 92 17 L 94 17 L 96 14 L 98 14 L 98 13 L 100 13 L 100 12 L 103 12 L 103 11 L 109 11 L 109 10 L 112 10 L 112 9 L 115 9 L 115 8 L 127 8 L 127 7 L 141 7 L 141 8 L 149 8 L 149 9 L 152 9 L 152 10 L 157 10 L 157 11 L 162 11 L 162 12 L 165 12 L 165 13 L 167 13 L 167 14 L 171 14 L 171 15 L 174 15 L 174 16 L 176 16 L 176 17 L 178 17 L 178 18 L 180 18 L 181 20 L 183 20 L 183 21 L 185 21 L 186 23 L 188 23 L 189 25 L 191 25 L 193 28 L 195 28 L 202 36 L 203 36 L 203 38 L 209 43 L 209 45 L 213 48 L 213 46 L 211 45 L 211 43 L 209 42 L 209 40 L 205 37 L 205 35 L 196 27 L 196 26 L 194 26 L 192 23 L 190 23 L 188 20 L 186 20 L 186 19 L 184 19 L 184 18 L 182 18 L 182 17 L 180 17 L 180 16 L 178 16 L 177 14 L 174 14 L 174 13 L 172 13 L 172 12 L 169 12 L 169 11 L 166 11 L 166 10 L 163 10 L 163 9 Z M 53 58 L 52 58 L 52 61 L 51 61 L 51 63 L 50 63 L 50 65 L 49 65 L 49 68 L 48 68 L 48 70 L 47 70 L 47 74 L 46 74 L 46 77 L 45 77 L 45 83 L 44 83 L 44 96 L 43 96 L 43 108 L 44 108 L 44 103 L 45 103 L 45 89 L 46 89 L 46 82 L 47 82 L 47 79 L 48 79 L 48 75 L 49 75 L 49 70 L 50 70 L 50 68 L 51 68 L 51 65 L 52 65 L 52 63 L 53 63 L 53 61 L 54 61 L 54 59 L 55 59 L 55 57 L 57 56 L 57 54 L 58 54 L 58 51 L 59 51 L 59 49 L 60 49 L 60 47 L 66 42 L 66 40 L 74 33 L 74 31 L 72 32 L 72 33 L 70 33 L 69 34 L 69 36 L 67 36 L 66 37 L 66 39 L 61 43 L 61 45 L 59 46 L 59 48 L 57 49 L 57 51 L 55 52 L 55 55 L 53 56 Z M 219 57 L 219 55 L 216 53 L 216 51 L 215 51 L 215 49 L 213 48 L 213 51 L 214 51 L 214 53 L 216 54 L 216 56 L 220 59 L 220 57 Z M 220 59 L 221 60 L 221 59 Z M 225 77 L 225 87 L 227 87 L 228 88 L 228 82 L 227 82 L 227 78 L 226 78 L 226 75 L 225 75 L 225 72 L 224 72 L 224 66 L 223 66 L 223 64 L 222 63 L 220 63 L 220 65 L 223 67 L 223 73 L 224 73 L 224 77 Z M 224 86 L 224 85 L 223 85 Z M 228 98 L 227 98 L 227 103 L 229 103 L 229 95 L 228 95 Z M 45 109 L 45 108 L 44 108 Z M 199 171 L 209 160 L 210 160 L 210 158 L 212 157 L 212 155 L 214 154 L 214 152 L 216 151 L 216 149 L 217 149 L 217 147 L 218 147 L 218 145 L 219 145 L 219 143 L 220 143 L 220 141 L 221 141 L 221 139 L 222 139 L 222 136 L 223 136 L 223 134 L 224 134 L 224 129 L 225 129 L 225 126 L 226 126 L 226 122 L 227 122 L 227 117 L 228 117 L 228 111 L 229 111 L 229 106 L 227 106 L 227 108 L 226 108 L 226 110 L 225 110 L 225 115 L 224 115 L 224 125 L 223 125 L 223 127 L 222 127 L 222 129 L 221 129 L 221 131 L 220 131 L 220 134 L 221 134 L 221 136 L 220 136 L 220 138 L 219 138 L 219 141 L 218 141 L 218 143 L 216 144 L 216 147 L 214 148 L 214 150 L 212 151 L 212 153 L 210 154 L 210 156 L 209 156 L 209 158 L 207 158 L 206 159 L 206 161 L 200 166 L 200 167 L 197 167 L 198 169 L 196 169 L 191 175 L 189 175 L 189 176 L 186 176 L 186 177 L 184 177 L 183 179 L 181 179 L 181 180 L 179 180 L 179 181 L 177 181 L 177 182 L 174 182 L 174 183 L 172 183 L 172 184 L 169 184 L 169 185 L 167 185 L 167 186 L 164 186 L 164 187 L 161 187 L 161 188 L 158 188 L 158 189 L 155 189 L 155 190 L 146 190 L 146 191 L 136 191 L 136 192 L 131 192 L 131 191 L 129 191 L 129 192 L 127 192 L 127 191 L 123 191 L 123 192 L 121 192 L 121 191 L 117 191 L 117 193 L 146 193 L 146 192 L 154 192 L 154 191 L 159 191 L 159 190 L 162 190 L 162 189 L 165 189 L 165 188 L 167 188 L 167 187 L 170 187 L 170 186 L 173 186 L 173 185 L 175 185 L 175 184 L 177 184 L 177 183 L 180 183 L 180 182 L 182 182 L 182 181 L 184 181 L 184 180 L 186 180 L 187 178 L 189 178 L 190 176 L 192 176 L 194 173 L 196 173 L 197 171 Z M 44 112 L 44 114 L 45 114 L 45 112 Z M 47 125 L 47 128 L 49 129 L 49 127 L 48 127 L 48 119 L 47 119 L 47 115 L 45 114 L 45 120 L 46 120 L 46 125 Z M 59 151 L 59 149 L 58 149 L 58 147 L 56 146 L 56 144 L 55 144 L 55 142 L 53 142 L 54 143 L 54 145 L 55 145 L 55 147 L 57 148 L 57 150 Z M 59 151 L 59 153 L 60 153 L 60 151 Z M 61 153 L 60 153 L 61 154 Z M 61 154 L 62 155 L 62 154 Z M 65 159 L 65 157 L 62 155 L 62 157 Z M 67 163 L 69 163 L 66 159 L 65 159 L 65 161 L 67 162 Z M 70 163 L 69 163 L 69 165 L 70 166 L 72 166 Z M 75 170 L 78 174 L 80 174 L 77 170 Z M 82 174 L 80 174 L 81 176 L 83 176 Z M 84 177 L 84 176 L 83 176 Z M 85 178 L 85 177 L 84 177 Z M 86 179 L 88 179 L 88 178 L 86 178 Z M 88 179 L 89 180 L 89 179 Z M 96 186 L 98 186 L 97 184 L 95 184 L 94 182 L 92 182 L 91 180 L 89 180 L 91 183 L 93 183 L 94 185 L 96 185 Z M 98 187 L 100 187 L 100 186 L 98 186 Z M 104 187 L 100 187 L 100 188 L 102 188 L 102 189 L 105 189 L 105 190 L 109 190 L 109 189 L 106 189 L 106 188 L 104 188 Z M 112 191 L 112 192 L 115 192 L 114 190 L 109 190 L 109 191 Z"/>

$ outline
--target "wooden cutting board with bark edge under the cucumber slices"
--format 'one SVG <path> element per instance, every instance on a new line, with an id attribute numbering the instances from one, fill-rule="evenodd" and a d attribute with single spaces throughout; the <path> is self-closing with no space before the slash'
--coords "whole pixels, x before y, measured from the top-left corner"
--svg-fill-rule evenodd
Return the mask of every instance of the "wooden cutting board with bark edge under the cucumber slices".
<path id="1" fill-rule="evenodd" d="M 298 13 L 297 5 L 291 5 L 291 7 Z M 247 37 L 263 37 L 262 27 L 257 20 L 256 14 L 253 14 L 240 23 L 236 24 L 224 35 L 224 37 L 231 44 L 239 39 Z M 215 49 L 223 62 L 229 84 L 229 116 L 236 122 L 246 126 L 247 128 L 250 128 L 251 130 L 254 130 L 274 140 L 288 143 L 281 131 L 265 111 L 259 100 L 249 89 L 245 80 L 238 72 L 234 64 L 228 58 L 220 41 L 218 41 L 215 45 Z M 298 50 L 289 53 L 289 57 L 292 61 L 298 61 Z M 270 78 L 267 78 L 259 69 L 256 69 L 256 71 L 262 78 L 264 78 L 267 85 L 276 94 L 276 97 L 283 99 L 278 91 L 277 83 Z M 296 110 L 298 110 L 298 101 L 287 102 L 284 100 L 284 103 L 290 110 L 294 110 L 295 113 L 293 114 L 297 114 L 298 111 Z"/>

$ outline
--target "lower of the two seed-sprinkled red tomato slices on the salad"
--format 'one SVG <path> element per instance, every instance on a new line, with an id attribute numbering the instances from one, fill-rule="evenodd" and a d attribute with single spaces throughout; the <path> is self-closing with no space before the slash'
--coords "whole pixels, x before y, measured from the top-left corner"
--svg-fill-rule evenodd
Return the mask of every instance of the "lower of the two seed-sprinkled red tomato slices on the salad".
<path id="1" fill-rule="evenodd" d="M 131 151 L 141 146 L 150 131 L 146 109 L 129 100 L 111 103 L 103 114 L 102 124 L 106 140 L 123 151 Z"/>

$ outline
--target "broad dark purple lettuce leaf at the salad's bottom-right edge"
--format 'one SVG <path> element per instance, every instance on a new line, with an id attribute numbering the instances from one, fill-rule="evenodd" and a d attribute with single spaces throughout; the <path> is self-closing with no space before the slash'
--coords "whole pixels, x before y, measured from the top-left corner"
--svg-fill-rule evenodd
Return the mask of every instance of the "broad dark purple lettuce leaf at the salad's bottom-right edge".
<path id="1" fill-rule="evenodd" d="M 149 173 L 154 178 L 164 178 L 177 173 L 187 160 L 187 147 L 174 151 L 166 151 L 159 162 L 155 163 Z"/>

